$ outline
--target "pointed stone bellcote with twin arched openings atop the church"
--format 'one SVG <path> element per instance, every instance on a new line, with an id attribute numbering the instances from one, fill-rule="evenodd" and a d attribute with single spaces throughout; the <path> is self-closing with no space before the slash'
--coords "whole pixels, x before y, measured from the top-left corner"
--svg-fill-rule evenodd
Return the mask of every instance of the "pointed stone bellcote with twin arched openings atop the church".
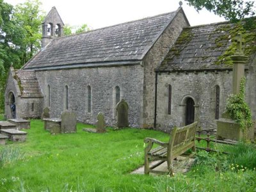
<path id="1" fill-rule="evenodd" d="M 52 39 L 63 36 L 63 21 L 55 6 L 47 14 L 42 23 L 42 48 L 51 42 Z"/>

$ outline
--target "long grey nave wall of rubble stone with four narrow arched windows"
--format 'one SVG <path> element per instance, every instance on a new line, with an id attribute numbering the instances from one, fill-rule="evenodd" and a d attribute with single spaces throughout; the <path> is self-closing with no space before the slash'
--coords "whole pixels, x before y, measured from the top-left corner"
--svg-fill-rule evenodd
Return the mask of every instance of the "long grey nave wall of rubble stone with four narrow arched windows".
<path id="1" fill-rule="evenodd" d="M 48 107 L 50 86 L 50 116 L 60 117 L 65 109 L 65 86 L 68 86 L 68 109 L 76 112 L 79 122 L 95 124 L 97 114 L 104 113 L 106 124 L 116 124 L 115 87 L 120 87 L 120 99 L 129 105 L 129 123 L 140 127 L 143 100 L 143 67 L 141 65 L 75 68 L 37 71 L 36 76 Z M 88 86 L 92 90 L 92 111 L 88 112 Z"/>

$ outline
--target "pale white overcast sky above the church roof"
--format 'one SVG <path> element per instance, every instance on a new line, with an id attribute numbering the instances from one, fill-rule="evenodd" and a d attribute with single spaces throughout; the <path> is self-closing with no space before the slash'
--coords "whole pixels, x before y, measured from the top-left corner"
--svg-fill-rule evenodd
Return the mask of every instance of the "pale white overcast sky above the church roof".
<path id="1" fill-rule="evenodd" d="M 4 0 L 6 3 L 24 3 L 25 0 Z M 179 8 L 180 0 L 40 0 L 42 9 L 48 13 L 55 6 L 64 24 L 81 26 L 88 24 L 91 29 L 111 26 L 122 22 L 142 19 Z M 207 10 L 195 11 L 183 1 L 182 8 L 191 26 L 220 22 L 220 18 Z"/>

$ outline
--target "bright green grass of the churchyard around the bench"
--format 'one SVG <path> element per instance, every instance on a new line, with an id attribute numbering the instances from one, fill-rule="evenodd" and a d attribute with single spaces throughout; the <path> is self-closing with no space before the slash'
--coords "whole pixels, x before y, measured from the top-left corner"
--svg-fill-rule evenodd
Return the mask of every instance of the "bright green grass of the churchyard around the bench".
<path id="1" fill-rule="evenodd" d="M 3 117 L 0 116 L 3 120 Z M 196 163 L 186 174 L 130 174 L 144 163 L 145 137 L 168 141 L 169 135 L 145 129 L 56 134 L 31 120 L 23 143 L 0 147 L 0 191 L 255 191 L 256 149 L 212 145 L 232 152 L 221 155 L 197 150 Z M 202 141 L 196 145 L 204 145 Z"/>

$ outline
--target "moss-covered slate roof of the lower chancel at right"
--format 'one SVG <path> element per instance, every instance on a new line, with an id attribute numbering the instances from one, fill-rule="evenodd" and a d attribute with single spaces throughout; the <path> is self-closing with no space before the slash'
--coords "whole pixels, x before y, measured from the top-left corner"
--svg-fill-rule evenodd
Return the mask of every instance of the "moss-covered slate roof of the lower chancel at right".
<path id="1" fill-rule="evenodd" d="M 157 68 L 159 71 L 221 70 L 232 68 L 228 53 L 235 25 L 228 22 L 184 28 Z M 233 31 L 232 31 L 233 30 Z M 256 42 L 250 42 L 255 44 Z M 235 49 L 236 50 L 236 49 Z M 234 52 L 232 49 L 230 52 Z M 231 62 L 231 63 L 230 63 Z"/>

